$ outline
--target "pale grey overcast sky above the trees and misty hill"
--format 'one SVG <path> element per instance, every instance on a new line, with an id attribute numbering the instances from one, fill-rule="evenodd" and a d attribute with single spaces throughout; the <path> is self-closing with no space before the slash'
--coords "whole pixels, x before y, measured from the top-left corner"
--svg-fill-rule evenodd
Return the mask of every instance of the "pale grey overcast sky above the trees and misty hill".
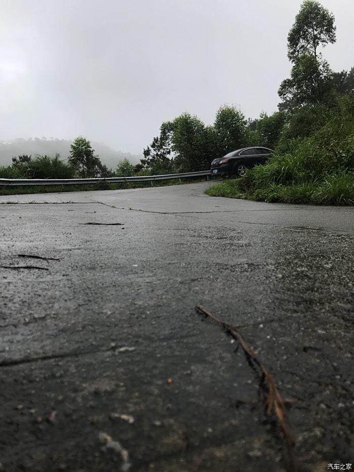
<path id="1" fill-rule="evenodd" d="M 0 139 L 82 135 L 141 153 L 163 121 L 272 113 L 298 0 L 1 0 Z M 353 0 L 323 0 L 334 70 L 354 65 Z"/>

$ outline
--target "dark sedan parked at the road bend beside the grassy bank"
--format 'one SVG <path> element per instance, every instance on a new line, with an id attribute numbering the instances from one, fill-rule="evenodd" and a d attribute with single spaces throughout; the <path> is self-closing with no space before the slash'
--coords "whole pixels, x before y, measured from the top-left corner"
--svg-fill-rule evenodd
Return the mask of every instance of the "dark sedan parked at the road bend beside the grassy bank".
<path id="1" fill-rule="evenodd" d="M 268 148 L 250 147 L 229 152 L 211 162 L 211 174 L 236 175 L 242 177 L 246 169 L 257 164 L 265 164 L 274 151 Z"/>

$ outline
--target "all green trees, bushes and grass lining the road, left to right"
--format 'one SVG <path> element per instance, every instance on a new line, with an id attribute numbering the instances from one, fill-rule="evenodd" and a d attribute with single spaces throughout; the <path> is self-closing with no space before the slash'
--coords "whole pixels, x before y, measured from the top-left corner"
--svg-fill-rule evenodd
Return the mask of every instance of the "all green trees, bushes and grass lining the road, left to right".
<path id="1" fill-rule="evenodd" d="M 354 67 L 335 72 L 322 56 L 336 41 L 334 16 L 315 0 L 305 0 L 288 34 L 290 77 L 279 87 L 278 111 L 246 119 L 235 106 L 224 105 L 212 125 L 183 113 L 161 124 L 158 136 L 139 164 L 127 159 L 108 169 L 90 141 L 78 137 L 66 161 L 59 155 L 13 157 L 0 167 L 0 178 L 68 179 L 131 177 L 207 170 L 215 157 L 246 146 L 275 150 L 268 164 L 248 169 L 246 176 L 207 190 L 209 195 L 263 201 L 354 204 Z M 176 181 L 179 182 L 179 181 Z M 159 182 L 157 185 L 170 185 Z M 144 187 L 142 184 L 92 185 L 90 189 Z M 29 193 L 56 191 L 30 187 Z M 48 190 L 50 189 L 50 190 Z M 16 190 L 16 192 L 15 192 Z M 59 191 L 73 191 L 73 186 Z M 75 190 L 87 190 L 78 186 Z M 0 188 L 0 193 L 27 193 L 27 188 Z"/>

